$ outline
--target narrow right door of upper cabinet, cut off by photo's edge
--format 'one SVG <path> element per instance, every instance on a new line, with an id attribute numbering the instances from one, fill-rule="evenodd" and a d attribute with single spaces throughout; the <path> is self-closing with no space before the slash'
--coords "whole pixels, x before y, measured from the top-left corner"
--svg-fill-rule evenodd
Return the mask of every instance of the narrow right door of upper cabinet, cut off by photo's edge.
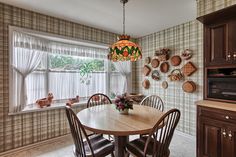
<path id="1" fill-rule="evenodd" d="M 236 19 L 229 22 L 229 55 L 232 63 L 236 64 Z"/>

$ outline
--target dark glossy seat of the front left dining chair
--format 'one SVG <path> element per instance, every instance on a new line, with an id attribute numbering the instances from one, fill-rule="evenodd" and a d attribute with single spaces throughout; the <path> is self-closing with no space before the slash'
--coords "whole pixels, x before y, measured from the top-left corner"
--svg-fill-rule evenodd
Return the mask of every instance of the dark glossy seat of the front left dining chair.
<path id="1" fill-rule="evenodd" d="M 114 145 L 101 134 L 94 134 L 88 137 L 95 157 L 105 157 L 114 150 Z M 86 156 L 92 156 L 87 141 L 84 142 Z M 75 153 L 76 154 L 76 153 Z M 80 154 L 76 155 L 80 156 Z"/>

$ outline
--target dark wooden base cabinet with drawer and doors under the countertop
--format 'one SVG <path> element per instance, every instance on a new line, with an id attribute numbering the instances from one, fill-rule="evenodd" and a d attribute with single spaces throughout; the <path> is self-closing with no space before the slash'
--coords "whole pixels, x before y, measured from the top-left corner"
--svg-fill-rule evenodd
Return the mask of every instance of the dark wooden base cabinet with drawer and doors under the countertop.
<path id="1" fill-rule="evenodd" d="M 197 107 L 197 156 L 236 157 L 236 113 Z"/>

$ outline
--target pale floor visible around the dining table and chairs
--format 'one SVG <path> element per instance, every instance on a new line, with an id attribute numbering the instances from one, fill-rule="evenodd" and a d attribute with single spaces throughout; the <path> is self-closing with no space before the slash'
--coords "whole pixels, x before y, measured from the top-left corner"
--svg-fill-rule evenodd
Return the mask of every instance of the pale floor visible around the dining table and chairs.
<path id="1" fill-rule="evenodd" d="M 135 137 L 131 137 L 135 138 Z M 175 132 L 171 141 L 170 157 L 196 157 L 195 137 Z M 51 144 L 23 150 L 4 157 L 74 157 L 72 153 L 72 139 L 59 140 Z"/>

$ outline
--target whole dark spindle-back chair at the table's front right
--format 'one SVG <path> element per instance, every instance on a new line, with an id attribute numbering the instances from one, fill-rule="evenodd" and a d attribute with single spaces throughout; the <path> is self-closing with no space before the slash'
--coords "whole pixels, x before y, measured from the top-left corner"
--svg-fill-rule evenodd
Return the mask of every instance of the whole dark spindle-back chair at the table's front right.
<path id="1" fill-rule="evenodd" d="M 135 157 L 169 157 L 169 145 L 179 119 L 180 111 L 178 109 L 166 112 L 148 136 L 142 136 L 126 145 L 128 154 Z M 163 124 L 164 126 L 160 128 Z"/>

